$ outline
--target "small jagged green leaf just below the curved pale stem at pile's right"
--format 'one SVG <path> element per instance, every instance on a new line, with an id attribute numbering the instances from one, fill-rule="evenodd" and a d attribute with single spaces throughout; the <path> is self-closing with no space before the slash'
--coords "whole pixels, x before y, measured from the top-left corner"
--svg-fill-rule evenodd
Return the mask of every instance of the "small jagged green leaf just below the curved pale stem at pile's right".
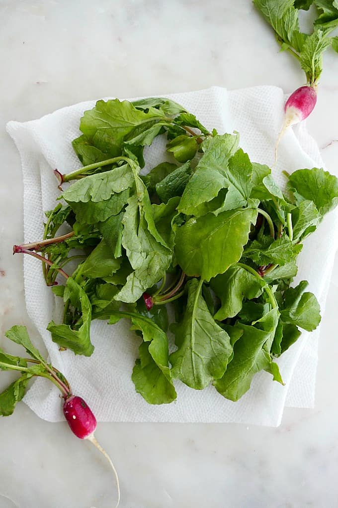
<path id="1" fill-rule="evenodd" d="M 261 241 L 254 240 L 245 247 L 243 256 L 250 258 L 257 266 L 285 265 L 293 258 L 293 246 L 288 236 L 274 240 L 271 237 L 264 236 Z"/>

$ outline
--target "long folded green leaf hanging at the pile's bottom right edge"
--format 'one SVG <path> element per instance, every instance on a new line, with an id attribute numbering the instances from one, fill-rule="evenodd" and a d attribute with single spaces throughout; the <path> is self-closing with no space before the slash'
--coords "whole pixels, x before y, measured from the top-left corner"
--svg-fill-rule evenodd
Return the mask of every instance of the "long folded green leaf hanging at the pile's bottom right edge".
<path id="1" fill-rule="evenodd" d="M 270 346 L 277 323 L 277 308 L 270 310 L 253 326 L 237 322 L 243 334 L 234 344 L 234 358 L 214 386 L 223 397 L 239 400 L 250 388 L 253 376 L 271 365 Z"/>

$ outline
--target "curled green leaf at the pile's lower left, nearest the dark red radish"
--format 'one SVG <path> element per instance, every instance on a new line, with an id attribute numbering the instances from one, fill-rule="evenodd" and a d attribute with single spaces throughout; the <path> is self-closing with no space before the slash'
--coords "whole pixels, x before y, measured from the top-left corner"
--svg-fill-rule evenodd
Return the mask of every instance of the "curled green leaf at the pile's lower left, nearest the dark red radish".
<path id="1" fill-rule="evenodd" d="M 71 277 L 67 279 L 66 289 L 68 290 L 71 304 L 81 309 L 81 326 L 76 324 L 71 328 L 69 325 L 56 325 L 54 321 L 51 321 L 47 330 L 51 332 L 53 342 L 56 342 L 61 347 L 69 348 L 76 355 L 91 356 L 94 346 L 90 341 L 92 307 L 89 298 L 80 285 Z"/>

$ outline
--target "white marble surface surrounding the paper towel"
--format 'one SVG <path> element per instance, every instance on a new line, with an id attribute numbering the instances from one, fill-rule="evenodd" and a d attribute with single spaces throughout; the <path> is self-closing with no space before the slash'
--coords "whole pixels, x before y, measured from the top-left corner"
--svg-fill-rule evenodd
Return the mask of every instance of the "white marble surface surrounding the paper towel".
<path id="1" fill-rule="evenodd" d="M 2 345 L 10 326 L 29 324 L 22 259 L 11 255 L 22 236 L 22 182 L 19 156 L 4 129 L 8 120 L 96 97 L 210 85 L 274 84 L 291 92 L 304 77 L 288 54 L 278 54 L 249 0 L 0 0 L 0 19 Z M 328 168 L 338 158 L 337 110 L 338 57 L 328 52 L 308 120 Z M 119 469 L 122 508 L 338 506 L 337 288 L 338 260 L 323 316 L 315 409 L 286 409 L 278 429 L 99 425 L 97 438 Z M 0 387 L 8 376 L 1 374 Z M 19 404 L 0 421 L 0 508 L 114 505 L 114 482 L 90 447 L 66 424 L 39 420 Z"/>

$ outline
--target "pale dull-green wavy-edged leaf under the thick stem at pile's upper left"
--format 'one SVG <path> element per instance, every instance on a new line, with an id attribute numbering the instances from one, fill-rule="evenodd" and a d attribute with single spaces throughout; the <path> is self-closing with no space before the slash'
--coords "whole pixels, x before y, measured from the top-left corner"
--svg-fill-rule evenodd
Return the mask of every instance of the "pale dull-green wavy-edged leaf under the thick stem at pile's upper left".
<path id="1" fill-rule="evenodd" d="M 97 203 L 105 201 L 114 193 L 122 193 L 134 184 L 134 176 L 130 166 L 125 164 L 119 168 L 95 173 L 81 178 L 70 185 L 62 194 L 62 198 L 70 203 Z"/>

